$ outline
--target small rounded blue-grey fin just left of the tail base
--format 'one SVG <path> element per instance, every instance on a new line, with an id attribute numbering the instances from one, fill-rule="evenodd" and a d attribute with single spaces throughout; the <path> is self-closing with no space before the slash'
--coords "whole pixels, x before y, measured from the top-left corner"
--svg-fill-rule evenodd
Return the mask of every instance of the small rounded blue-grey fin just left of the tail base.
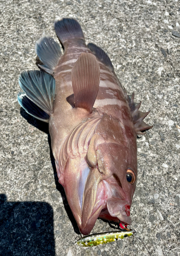
<path id="1" fill-rule="evenodd" d="M 53 75 L 61 57 L 61 49 L 57 42 L 51 37 L 42 37 L 36 42 L 36 54 L 44 65 L 39 67 Z"/>

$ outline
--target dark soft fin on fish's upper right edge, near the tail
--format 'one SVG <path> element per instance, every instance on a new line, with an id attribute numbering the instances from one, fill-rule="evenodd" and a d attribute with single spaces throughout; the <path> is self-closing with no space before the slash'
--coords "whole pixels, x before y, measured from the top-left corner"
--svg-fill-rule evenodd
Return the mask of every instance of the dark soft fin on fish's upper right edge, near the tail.
<path id="1" fill-rule="evenodd" d="M 110 68 L 111 71 L 114 71 L 112 62 L 110 61 L 109 56 L 98 46 L 89 43 L 87 47 L 92 51 L 92 53 L 106 66 Z"/>

